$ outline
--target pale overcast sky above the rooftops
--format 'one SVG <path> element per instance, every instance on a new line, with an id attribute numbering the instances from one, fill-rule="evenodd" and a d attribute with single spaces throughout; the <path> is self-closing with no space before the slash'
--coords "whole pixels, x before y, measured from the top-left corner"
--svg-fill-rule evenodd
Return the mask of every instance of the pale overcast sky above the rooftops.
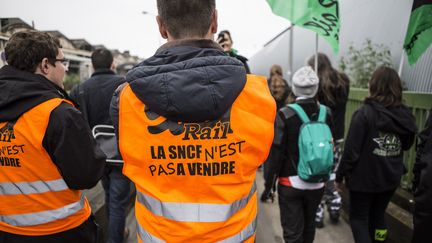
<path id="1" fill-rule="evenodd" d="M 231 31 L 234 48 L 251 57 L 289 22 L 273 15 L 265 0 L 216 0 L 219 30 Z M 58 30 L 109 49 L 153 55 L 160 38 L 156 0 L 0 0 L 0 17 L 18 17 L 38 30 Z"/>

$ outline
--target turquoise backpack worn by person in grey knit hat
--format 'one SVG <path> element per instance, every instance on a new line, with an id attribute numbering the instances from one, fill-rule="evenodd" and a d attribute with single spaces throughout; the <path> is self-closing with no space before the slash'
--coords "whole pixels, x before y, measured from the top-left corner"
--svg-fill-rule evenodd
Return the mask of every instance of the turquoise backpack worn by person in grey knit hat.
<path id="1" fill-rule="evenodd" d="M 333 166 L 333 138 L 326 121 L 327 108 L 320 105 L 318 121 L 311 121 L 298 104 L 288 105 L 302 120 L 298 148 L 298 176 L 307 182 L 324 182 Z"/>

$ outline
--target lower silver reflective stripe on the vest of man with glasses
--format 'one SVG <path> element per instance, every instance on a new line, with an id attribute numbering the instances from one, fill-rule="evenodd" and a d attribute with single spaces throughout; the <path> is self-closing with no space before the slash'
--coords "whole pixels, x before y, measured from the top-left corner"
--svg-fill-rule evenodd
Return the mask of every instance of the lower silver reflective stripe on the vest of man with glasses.
<path id="1" fill-rule="evenodd" d="M 67 218 L 84 207 L 84 196 L 78 202 L 71 203 L 59 209 L 47 210 L 38 213 L 0 215 L 0 221 L 13 226 L 32 226 L 53 222 Z"/>

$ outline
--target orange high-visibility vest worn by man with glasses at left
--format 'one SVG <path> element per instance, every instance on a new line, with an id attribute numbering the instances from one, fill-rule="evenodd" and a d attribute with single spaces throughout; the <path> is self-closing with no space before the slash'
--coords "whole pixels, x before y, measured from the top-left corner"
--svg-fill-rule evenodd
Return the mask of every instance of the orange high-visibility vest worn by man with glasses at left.
<path id="1" fill-rule="evenodd" d="M 62 102 L 50 99 L 0 123 L 0 231 L 49 235 L 90 216 L 87 199 L 69 189 L 42 145 L 51 111 Z"/>

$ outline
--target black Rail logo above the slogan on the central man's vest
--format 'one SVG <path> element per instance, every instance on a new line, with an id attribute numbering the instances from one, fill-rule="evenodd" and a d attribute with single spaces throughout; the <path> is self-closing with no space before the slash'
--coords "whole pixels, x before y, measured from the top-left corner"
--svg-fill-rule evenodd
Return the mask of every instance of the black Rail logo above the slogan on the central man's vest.
<path id="1" fill-rule="evenodd" d="M 144 113 L 149 120 L 160 117 L 147 109 Z M 159 134 L 169 130 L 175 136 L 183 134 L 183 140 L 225 139 L 228 134 L 233 133 L 230 126 L 230 113 L 231 110 L 228 110 L 219 120 L 201 123 L 174 122 L 166 119 L 156 126 L 149 126 L 148 131 L 151 134 Z"/>

